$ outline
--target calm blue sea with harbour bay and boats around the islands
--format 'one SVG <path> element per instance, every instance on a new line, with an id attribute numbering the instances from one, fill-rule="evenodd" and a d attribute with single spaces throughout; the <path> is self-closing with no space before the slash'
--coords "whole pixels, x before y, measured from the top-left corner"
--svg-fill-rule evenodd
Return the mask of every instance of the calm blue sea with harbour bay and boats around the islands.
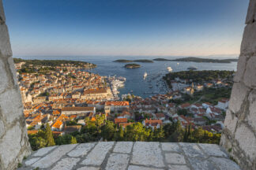
<path id="1" fill-rule="evenodd" d="M 27 56 L 20 57 L 22 59 L 37 59 L 37 60 L 73 60 L 73 61 L 86 61 L 96 64 L 97 67 L 88 72 L 99 74 L 100 76 L 122 76 L 126 78 L 125 87 L 119 89 L 119 97 L 122 94 L 134 94 L 142 98 L 148 98 L 155 94 L 166 94 L 168 87 L 162 79 L 168 73 L 168 67 L 172 68 L 172 72 L 186 71 L 187 68 L 193 66 L 198 70 L 229 70 L 236 71 L 237 62 L 232 63 L 197 63 L 197 62 L 181 62 L 181 61 L 154 61 L 153 63 L 137 63 L 141 68 L 124 68 L 127 63 L 114 62 L 118 59 L 137 60 L 149 59 L 155 57 L 101 57 L 101 56 Z M 167 59 L 175 59 L 178 57 L 164 57 Z M 148 76 L 144 79 L 145 72 Z"/>

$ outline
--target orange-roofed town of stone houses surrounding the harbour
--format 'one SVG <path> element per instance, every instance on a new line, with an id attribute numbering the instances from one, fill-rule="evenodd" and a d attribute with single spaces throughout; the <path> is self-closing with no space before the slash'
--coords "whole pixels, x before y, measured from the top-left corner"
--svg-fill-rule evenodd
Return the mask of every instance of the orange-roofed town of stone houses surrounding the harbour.
<path id="1" fill-rule="evenodd" d="M 186 76 L 173 72 L 164 77 L 170 87 L 168 94 L 150 98 L 122 94 L 119 98 L 124 77 L 100 76 L 69 63 L 50 68 L 24 65 L 24 61 L 15 64 L 28 135 L 36 135 L 48 125 L 55 138 L 81 132 L 102 117 L 122 129 L 140 123 L 156 132 L 179 122 L 183 129 L 200 128 L 220 137 L 234 74 L 227 71 L 228 75 L 225 72 L 216 79 L 198 80 L 183 79 Z M 214 71 L 206 75 L 209 72 Z"/>

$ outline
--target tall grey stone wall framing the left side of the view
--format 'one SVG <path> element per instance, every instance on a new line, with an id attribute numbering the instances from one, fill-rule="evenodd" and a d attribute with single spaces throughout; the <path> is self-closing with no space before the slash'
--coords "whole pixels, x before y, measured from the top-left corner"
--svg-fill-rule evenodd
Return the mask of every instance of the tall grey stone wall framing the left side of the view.
<path id="1" fill-rule="evenodd" d="M 31 152 L 6 17 L 0 0 L 0 169 L 15 169 Z"/>

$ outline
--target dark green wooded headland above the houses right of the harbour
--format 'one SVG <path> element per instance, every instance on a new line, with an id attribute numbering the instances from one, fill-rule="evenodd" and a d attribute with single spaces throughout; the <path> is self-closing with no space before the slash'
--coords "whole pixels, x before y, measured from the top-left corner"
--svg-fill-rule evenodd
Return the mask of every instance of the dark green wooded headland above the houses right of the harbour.
<path id="1" fill-rule="evenodd" d="M 203 70 L 203 71 L 182 71 L 170 72 L 164 79 L 171 80 L 179 77 L 179 79 L 193 79 L 194 83 L 209 82 L 214 79 L 232 79 L 234 71 L 226 70 Z"/>

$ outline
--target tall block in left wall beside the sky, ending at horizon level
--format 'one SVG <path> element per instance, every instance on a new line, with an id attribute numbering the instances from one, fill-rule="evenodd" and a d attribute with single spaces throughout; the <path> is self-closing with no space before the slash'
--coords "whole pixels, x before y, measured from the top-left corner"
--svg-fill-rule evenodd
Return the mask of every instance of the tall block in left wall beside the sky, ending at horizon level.
<path id="1" fill-rule="evenodd" d="M 0 24 L 0 57 L 10 57 L 12 55 L 8 28 L 6 24 Z"/>

